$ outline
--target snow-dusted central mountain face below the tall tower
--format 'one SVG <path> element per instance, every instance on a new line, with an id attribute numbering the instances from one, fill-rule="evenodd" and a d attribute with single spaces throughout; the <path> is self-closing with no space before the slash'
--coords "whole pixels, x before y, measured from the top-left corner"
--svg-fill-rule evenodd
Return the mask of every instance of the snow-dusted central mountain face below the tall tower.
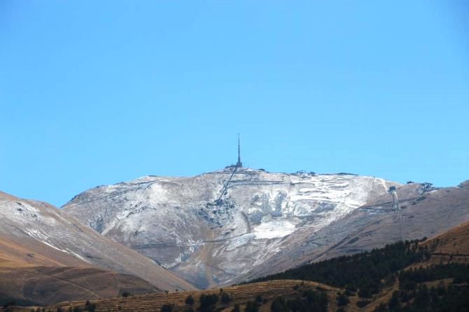
<path id="1" fill-rule="evenodd" d="M 390 186 L 400 184 L 355 174 L 228 168 L 99 186 L 63 210 L 207 288 L 237 281 L 269 260 L 288 260 L 290 241 L 306 242 Z"/>

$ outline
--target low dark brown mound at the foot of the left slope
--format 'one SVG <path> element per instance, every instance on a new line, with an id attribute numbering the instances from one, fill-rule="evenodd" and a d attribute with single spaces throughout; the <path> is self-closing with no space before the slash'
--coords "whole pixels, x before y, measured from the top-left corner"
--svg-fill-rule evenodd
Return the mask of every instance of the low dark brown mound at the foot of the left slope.
<path id="1" fill-rule="evenodd" d="M 158 288 L 135 276 L 95 268 L 18 267 L 0 272 L 2 302 L 17 304 L 47 305 L 150 291 Z"/>

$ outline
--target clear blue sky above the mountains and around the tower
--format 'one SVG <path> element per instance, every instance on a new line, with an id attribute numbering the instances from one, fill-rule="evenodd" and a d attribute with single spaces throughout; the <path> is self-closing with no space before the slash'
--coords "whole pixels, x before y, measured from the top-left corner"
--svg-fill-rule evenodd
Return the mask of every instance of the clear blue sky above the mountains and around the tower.
<path id="1" fill-rule="evenodd" d="M 386 2 L 386 3 L 385 3 Z M 0 1 L 0 190 L 236 161 L 469 179 L 468 1 Z"/>

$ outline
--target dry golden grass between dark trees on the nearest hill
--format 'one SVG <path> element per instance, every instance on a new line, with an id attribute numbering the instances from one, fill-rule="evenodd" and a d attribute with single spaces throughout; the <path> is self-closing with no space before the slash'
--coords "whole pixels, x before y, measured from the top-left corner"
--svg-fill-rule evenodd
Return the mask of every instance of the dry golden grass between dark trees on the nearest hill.
<path id="1" fill-rule="evenodd" d="M 463 223 L 456 228 L 444 232 L 441 235 L 437 235 L 428 241 L 421 243 L 420 245 L 425 247 L 427 246 L 428 251 L 432 254 L 432 258 L 426 262 L 420 262 L 413 264 L 409 267 L 418 267 L 418 266 L 427 266 L 434 262 L 435 257 L 440 257 L 439 253 L 459 253 L 459 254 L 468 254 L 469 253 L 469 223 Z M 440 258 L 437 258 L 440 262 Z M 461 262 L 461 258 L 453 257 L 451 258 L 452 262 Z M 449 260 L 449 258 L 447 258 Z M 464 262 L 464 261 L 462 261 Z M 407 268 L 405 268 L 407 269 Z M 446 278 L 441 280 L 444 285 L 451 283 L 451 278 Z M 295 290 L 295 285 L 300 285 L 302 281 L 298 280 L 270 280 L 270 281 L 261 281 L 258 283 L 248 283 L 244 285 L 236 285 L 228 288 L 224 288 L 224 291 L 230 294 L 233 297 L 233 301 L 230 302 L 227 306 L 218 304 L 217 308 L 220 311 L 231 311 L 234 304 L 241 305 L 241 311 L 244 309 L 244 303 L 247 301 L 254 300 L 256 296 L 261 295 L 262 298 L 267 299 L 265 304 L 262 304 L 260 311 L 269 311 L 270 303 L 273 299 L 277 297 L 291 298 L 295 297 L 304 289 L 319 289 L 327 292 L 329 297 L 329 311 L 337 310 L 337 292 L 344 292 L 343 288 L 335 288 L 329 285 L 324 285 L 316 282 L 305 281 L 304 286 L 300 290 Z M 438 285 L 440 281 L 428 281 L 425 284 L 428 287 Z M 394 282 L 384 285 L 383 288 L 370 299 L 370 304 L 360 309 L 356 306 L 356 302 L 362 300 L 358 296 L 352 295 L 349 297 L 350 303 L 346 306 L 345 311 L 373 311 L 381 302 L 387 303 L 391 299 L 393 291 L 399 289 L 399 281 L 396 279 Z M 165 293 L 155 293 L 147 295 L 136 295 L 134 297 L 128 298 L 111 298 L 94 301 L 97 304 L 97 311 L 160 311 L 160 308 L 163 304 L 174 304 L 174 311 L 183 311 L 185 308 L 185 299 L 188 295 L 193 295 L 197 300 L 200 297 L 200 294 L 205 293 L 219 293 L 219 288 L 214 288 L 211 290 L 204 291 L 189 291 L 189 292 L 169 292 Z M 68 309 L 69 306 L 84 306 L 85 302 L 64 302 L 57 306 L 62 306 L 65 309 Z M 55 311 L 57 306 L 51 306 L 50 310 Z"/>

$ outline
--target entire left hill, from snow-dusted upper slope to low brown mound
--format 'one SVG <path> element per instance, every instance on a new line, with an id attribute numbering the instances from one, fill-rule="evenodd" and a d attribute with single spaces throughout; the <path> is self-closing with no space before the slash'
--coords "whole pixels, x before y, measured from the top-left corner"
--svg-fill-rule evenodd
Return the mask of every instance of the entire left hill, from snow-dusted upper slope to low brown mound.
<path id="1" fill-rule="evenodd" d="M 174 288 L 194 289 L 63 211 L 0 192 L 1 300 L 50 304 Z"/>

